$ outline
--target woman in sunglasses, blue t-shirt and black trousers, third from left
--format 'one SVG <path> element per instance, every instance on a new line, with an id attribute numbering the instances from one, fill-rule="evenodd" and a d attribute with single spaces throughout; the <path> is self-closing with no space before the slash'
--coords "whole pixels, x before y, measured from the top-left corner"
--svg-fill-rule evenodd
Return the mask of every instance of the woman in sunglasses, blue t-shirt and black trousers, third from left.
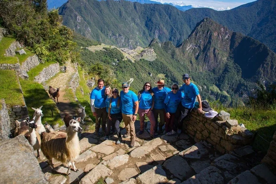
<path id="1" fill-rule="evenodd" d="M 120 144 L 122 141 L 120 123 L 122 121 L 122 104 L 120 103 L 120 95 L 118 89 L 114 88 L 112 90 L 112 97 L 110 97 L 109 107 L 108 107 L 108 122 L 107 126 L 114 126 L 118 140 L 116 144 Z M 110 130 L 110 128 L 109 128 Z M 107 135 L 108 136 L 108 135 Z"/>

